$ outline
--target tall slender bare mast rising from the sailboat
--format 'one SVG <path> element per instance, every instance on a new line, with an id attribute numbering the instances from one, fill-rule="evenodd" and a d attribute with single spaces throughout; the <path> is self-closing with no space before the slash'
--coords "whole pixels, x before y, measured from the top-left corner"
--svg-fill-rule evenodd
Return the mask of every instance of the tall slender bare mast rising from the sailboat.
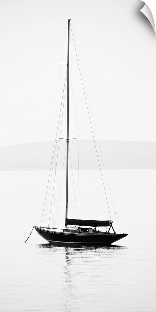
<path id="1" fill-rule="evenodd" d="M 66 154 L 66 219 L 68 216 L 68 158 L 69 158 L 69 33 L 70 19 L 68 20 L 68 52 L 67 52 L 67 154 Z M 65 224 L 67 227 L 67 224 Z"/>

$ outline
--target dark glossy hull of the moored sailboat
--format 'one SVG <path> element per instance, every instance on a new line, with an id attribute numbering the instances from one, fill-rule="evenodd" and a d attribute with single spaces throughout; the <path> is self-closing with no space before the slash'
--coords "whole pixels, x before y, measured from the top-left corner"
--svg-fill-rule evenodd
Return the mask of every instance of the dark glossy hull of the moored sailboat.
<path id="1" fill-rule="evenodd" d="M 42 227 L 35 227 L 37 233 L 50 244 L 55 245 L 101 245 L 108 246 L 128 234 L 116 233 L 70 233 L 53 232 Z"/>

